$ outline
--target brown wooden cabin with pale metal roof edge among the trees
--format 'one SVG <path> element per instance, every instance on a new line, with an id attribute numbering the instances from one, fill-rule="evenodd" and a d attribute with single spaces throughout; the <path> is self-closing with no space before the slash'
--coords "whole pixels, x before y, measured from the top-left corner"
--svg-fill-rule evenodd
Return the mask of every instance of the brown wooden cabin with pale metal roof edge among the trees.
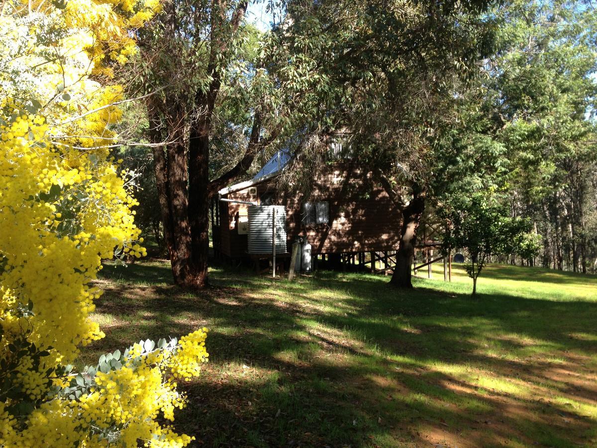
<path id="1" fill-rule="evenodd" d="M 398 248 L 401 213 L 383 188 L 367 181 L 370 174 L 361 173 L 349 161 L 336 161 L 313 173 L 309 196 L 298 198 L 277 191 L 276 177 L 282 167 L 278 161 L 277 170 L 219 192 L 220 200 L 213 202 L 211 210 L 216 256 L 248 256 L 249 205 L 230 200 L 285 205 L 288 252 L 297 237 L 306 238 L 315 257 L 352 254 L 354 259 L 355 254 Z"/>

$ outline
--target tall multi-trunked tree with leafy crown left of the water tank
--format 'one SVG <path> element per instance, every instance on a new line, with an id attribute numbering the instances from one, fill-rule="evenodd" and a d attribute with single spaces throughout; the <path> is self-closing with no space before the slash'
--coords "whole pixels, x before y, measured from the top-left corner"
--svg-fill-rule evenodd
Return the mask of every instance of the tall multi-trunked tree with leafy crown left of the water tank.
<path id="1" fill-rule="evenodd" d="M 174 280 L 207 285 L 210 201 L 300 126 L 297 69 L 276 70 L 247 1 L 170 0 L 139 30 L 133 83 L 147 99 L 149 139 Z"/>

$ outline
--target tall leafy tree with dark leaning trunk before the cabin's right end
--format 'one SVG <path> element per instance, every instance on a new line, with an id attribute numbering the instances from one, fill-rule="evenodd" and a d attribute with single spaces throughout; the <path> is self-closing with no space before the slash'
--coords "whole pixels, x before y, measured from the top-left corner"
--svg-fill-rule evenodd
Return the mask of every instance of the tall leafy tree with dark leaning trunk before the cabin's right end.
<path id="1" fill-rule="evenodd" d="M 411 287 L 418 223 L 433 179 L 429 137 L 454 118 L 455 89 L 491 42 L 491 23 L 480 15 L 487 2 L 293 5 L 288 30 L 323 42 L 315 47 L 319 76 L 333 80 L 336 93 L 329 125 L 347 129 L 349 157 L 374 173 L 402 212 L 391 283 Z"/>

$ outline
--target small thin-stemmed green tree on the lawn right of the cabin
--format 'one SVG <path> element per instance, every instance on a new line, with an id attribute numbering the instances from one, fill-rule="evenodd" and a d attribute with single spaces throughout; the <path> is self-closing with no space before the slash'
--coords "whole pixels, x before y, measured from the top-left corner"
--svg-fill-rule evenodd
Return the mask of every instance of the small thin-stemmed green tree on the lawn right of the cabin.
<path id="1" fill-rule="evenodd" d="M 496 195 L 475 192 L 444 204 L 441 214 L 445 226 L 444 251 L 464 248 L 469 253 L 465 263 L 473 279 L 473 293 L 477 292 L 477 278 L 491 255 L 518 253 L 532 256 L 537 251 L 537 235 L 530 233 L 526 219 L 511 217 Z"/>

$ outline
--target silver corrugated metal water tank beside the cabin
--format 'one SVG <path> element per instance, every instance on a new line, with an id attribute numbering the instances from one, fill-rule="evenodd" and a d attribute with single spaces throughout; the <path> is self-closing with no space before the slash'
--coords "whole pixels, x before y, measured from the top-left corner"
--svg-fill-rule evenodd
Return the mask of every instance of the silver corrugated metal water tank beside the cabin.
<path id="1" fill-rule="evenodd" d="M 286 251 L 286 208 L 283 205 L 249 205 L 249 253 L 272 253 L 274 208 L 276 209 L 276 253 Z"/>

